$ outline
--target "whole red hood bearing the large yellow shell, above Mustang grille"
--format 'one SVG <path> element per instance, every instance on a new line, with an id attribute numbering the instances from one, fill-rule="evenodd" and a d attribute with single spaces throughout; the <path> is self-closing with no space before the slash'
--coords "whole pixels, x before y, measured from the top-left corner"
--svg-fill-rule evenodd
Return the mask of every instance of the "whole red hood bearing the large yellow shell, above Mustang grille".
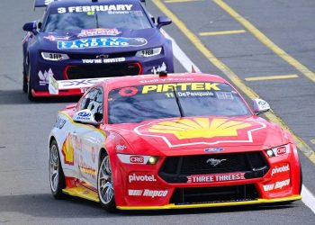
<path id="1" fill-rule="evenodd" d="M 128 142 L 131 154 L 139 155 L 256 151 L 290 142 L 282 128 L 257 116 L 185 117 L 110 127 Z"/>

